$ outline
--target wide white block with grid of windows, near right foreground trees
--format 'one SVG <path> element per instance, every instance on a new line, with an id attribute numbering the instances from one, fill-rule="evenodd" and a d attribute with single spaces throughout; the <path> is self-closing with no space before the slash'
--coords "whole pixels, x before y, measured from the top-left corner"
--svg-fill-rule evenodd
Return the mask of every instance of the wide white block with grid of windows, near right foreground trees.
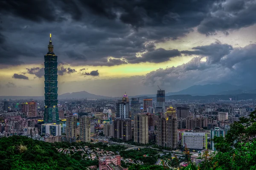
<path id="1" fill-rule="evenodd" d="M 182 147 L 189 149 L 207 149 L 207 134 L 200 132 L 184 132 L 182 134 Z"/>

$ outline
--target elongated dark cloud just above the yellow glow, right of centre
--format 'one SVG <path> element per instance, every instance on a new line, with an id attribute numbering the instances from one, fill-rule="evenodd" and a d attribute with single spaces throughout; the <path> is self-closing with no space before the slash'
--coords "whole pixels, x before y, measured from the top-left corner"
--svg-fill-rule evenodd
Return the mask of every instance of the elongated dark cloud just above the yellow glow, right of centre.
<path id="1" fill-rule="evenodd" d="M 165 50 L 163 48 L 157 48 L 154 51 L 148 51 L 142 54 L 142 57 L 129 57 L 127 58 L 129 63 L 140 63 L 140 62 L 166 62 L 172 57 L 181 56 L 178 50 Z"/>

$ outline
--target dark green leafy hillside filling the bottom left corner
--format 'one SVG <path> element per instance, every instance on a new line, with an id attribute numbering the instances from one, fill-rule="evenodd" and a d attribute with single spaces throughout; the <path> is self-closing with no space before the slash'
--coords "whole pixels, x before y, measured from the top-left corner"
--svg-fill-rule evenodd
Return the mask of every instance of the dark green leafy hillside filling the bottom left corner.
<path id="1" fill-rule="evenodd" d="M 51 143 L 25 136 L 0 138 L 1 170 L 81 170 L 90 165 L 98 165 L 98 161 L 58 153 Z"/>

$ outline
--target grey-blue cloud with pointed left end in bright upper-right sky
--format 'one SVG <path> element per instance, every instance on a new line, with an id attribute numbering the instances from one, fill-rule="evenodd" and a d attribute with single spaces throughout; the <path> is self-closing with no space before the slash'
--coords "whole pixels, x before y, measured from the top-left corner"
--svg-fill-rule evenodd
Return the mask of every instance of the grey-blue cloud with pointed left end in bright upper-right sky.
<path id="1" fill-rule="evenodd" d="M 215 64 L 220 61 L 222 57 L 229 54 L 233 50 L 233 47 L 228 44 L 221 44 L 220 42 L 215 42 L 210 45 L 197 46 L 192 48 L 195 51 L 181 51 L 183 54 L 187 55 L 200 55 L 207 57 L 207 62 L 210 64 Z"/>

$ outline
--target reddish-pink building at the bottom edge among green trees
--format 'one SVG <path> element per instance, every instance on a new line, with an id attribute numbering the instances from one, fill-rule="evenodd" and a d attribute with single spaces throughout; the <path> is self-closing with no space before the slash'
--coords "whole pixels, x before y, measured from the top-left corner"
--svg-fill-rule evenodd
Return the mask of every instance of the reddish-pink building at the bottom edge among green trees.
<path id="1" fill-rule="evenodd" d="M 121 156 L 103 156 L 99 157 L 99 170 L 128 170 L 121 167 Z"/>

